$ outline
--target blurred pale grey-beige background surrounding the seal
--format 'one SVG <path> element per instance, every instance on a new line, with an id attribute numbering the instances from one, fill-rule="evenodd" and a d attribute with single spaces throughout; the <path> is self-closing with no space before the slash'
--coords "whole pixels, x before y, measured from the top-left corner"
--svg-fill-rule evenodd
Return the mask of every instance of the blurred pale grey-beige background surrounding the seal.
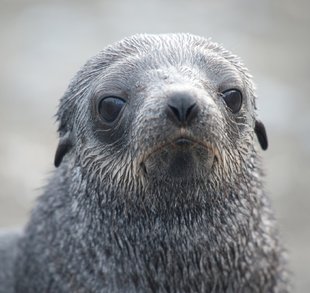
<path id="1" fill-rule="evenodd" d="M 242 57 L 270 148 L 266 183 L 295 289 L 310 288 L 308 0 L 0 1 L 0 228 L 22 227 L 53 171 L 54 114 L 87 58 L 134 33 L 190 32 Z"/>

